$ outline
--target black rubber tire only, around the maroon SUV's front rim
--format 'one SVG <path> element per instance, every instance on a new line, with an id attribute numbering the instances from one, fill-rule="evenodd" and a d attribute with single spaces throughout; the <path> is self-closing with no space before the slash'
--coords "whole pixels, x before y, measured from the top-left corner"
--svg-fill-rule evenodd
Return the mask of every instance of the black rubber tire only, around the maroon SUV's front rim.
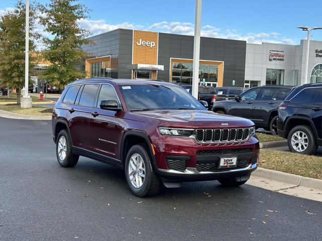
<path id="1" fill-rule="evenodd" d="M 135 154 L 138 154 L 140 157 L 142 157 L 145 168 L 144 180 L 139 188 L 136 188 L 132 184 L 129 174 L 130 159 Z M 134 174 L 133 176 L 131 175 L 133 178 L 134 176 Z M 153 196 L 159 191 L 161 186 L 160 178 L 154 172 L 152 161 L 146 151 L 146 148 L 141 145 L 135 145 L 128 151 L 125 161 L 125 177 L 130 190 L 135 196 L 138 197 Z"/>

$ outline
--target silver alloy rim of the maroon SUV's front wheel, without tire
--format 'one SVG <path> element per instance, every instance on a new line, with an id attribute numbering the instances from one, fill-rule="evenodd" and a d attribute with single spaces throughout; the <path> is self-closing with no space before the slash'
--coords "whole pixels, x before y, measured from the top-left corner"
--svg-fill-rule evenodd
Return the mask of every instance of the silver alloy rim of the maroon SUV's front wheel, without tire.
<path id="1" fill-rule="evenodd" d="M 145 166 L 141 155 L 135 153 L 131 156 L 128 166 L 130 182 L 135 188 L 140 188 L 145 179 Z"/>

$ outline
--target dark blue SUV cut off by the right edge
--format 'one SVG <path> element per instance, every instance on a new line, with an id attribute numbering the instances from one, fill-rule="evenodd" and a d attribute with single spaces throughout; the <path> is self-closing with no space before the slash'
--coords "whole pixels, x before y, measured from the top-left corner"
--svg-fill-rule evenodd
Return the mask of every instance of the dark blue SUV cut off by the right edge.
<path id="1" fill-rule="evenodd" d="M 285 98 L 277 132 L 292 152 L 312 154 L 322 146 L 322 83 L 298 86 Z"/>

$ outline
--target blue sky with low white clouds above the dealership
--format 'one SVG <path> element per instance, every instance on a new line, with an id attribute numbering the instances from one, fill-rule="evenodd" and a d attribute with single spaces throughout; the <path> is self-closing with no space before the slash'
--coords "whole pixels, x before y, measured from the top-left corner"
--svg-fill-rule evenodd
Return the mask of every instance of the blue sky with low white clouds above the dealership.
<path id="1" fill-rule="evenodd" d="M 0 0 L 0 15 L 15 7 Z M 30 0 L 33 2 L 33 0 Z M 46 4 L 47 0 L 38 0 Z M 193 35 L 195 0 L 79 0 L 91 9 L 79 21 L 93 35 L 118 28 Z M 322 27 L 322 0 L 202 0 L 201 36 L 248 43 L 299 44 L 307 32 L 298 26 Z M 37 32 L 43 33 L 37 25 Z M 311 32 L 322 41 L 322 30 Z"/>

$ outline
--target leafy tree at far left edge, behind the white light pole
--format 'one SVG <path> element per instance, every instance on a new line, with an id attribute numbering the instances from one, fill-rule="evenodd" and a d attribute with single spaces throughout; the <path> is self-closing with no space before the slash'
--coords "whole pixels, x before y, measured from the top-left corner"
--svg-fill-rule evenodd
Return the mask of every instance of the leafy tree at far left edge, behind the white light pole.
<path id="1" fill-rule="evenodd" d="M 39 35 L 34 32 L 36 9 L 29 9 L 29 51 L 36 49 L 35 41 Z M 25 31 L 26 5 L 18 0 L 13 11 L 0 17 L 0 76 L 1 83 L 17 89 L 17 103 L 20 103 L 20 88 L 25 83 Z M 35 58 L 29 55 L 29 72 L 33 70 Z M 30 76 L 30 75 L 29 75 Z M 26 90 L 28 91 L 28 90 Z"/>

